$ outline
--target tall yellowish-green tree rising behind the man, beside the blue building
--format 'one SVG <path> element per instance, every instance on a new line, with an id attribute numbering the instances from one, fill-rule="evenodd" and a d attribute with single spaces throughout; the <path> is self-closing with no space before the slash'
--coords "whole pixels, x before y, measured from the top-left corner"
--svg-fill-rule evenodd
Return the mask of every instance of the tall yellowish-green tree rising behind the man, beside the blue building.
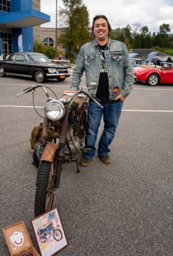
<path id="1" fill-rule="evenodd" d="M 90 40 L 89 12 L 82 0 L 63 0 L 64 9 L 60 17 L 66 21 L 66 28 L 59 43 L 66 49 L 66 55 L 74 60 L 80 46 Z"/>

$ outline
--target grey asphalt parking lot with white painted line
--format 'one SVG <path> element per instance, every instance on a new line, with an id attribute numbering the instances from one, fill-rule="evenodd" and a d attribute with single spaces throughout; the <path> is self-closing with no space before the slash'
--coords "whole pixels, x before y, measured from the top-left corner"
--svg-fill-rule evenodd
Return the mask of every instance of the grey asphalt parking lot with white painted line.
<path id="1" fill-rule="evenodd" d="M 57 95 L 70 87 L 50 80 Z M 30 79 L 0 79 L 1 228 L 24 220 L 35 248 L 34 217 L 37 169 L 31 164 L 30 133 L 42 121 L 32 94 L 16 95 L 36 84 Z M 81 81 L 84 85 L 84 78 Z M 173 254 L 173 86 L 134 84 L 123 104 L 112 163 L 95 156 L 76 172 L 63 166 L 54 206 L 60 212 L 68 247 L 60 256 L 172 256 Z M 35 93 L 35 105 L 46 98 Z M 40 113 L 41 109 L 39 109 Z M 100 127 L 99 135 L 101 132 Z M 9 255 L 2 230 L 0 255 Z"/>

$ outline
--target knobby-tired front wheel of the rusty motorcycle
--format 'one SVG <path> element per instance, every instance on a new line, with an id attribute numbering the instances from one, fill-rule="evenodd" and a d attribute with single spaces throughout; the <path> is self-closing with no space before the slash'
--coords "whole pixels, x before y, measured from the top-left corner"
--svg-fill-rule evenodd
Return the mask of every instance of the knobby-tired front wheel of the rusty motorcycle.
<path id="1" fill-rule="evenodd" d="M 56 162 L 41 161 L 38 166 L 37 188 L 35 193 L 35 216 L 51 209 L 54 200 Z"/>

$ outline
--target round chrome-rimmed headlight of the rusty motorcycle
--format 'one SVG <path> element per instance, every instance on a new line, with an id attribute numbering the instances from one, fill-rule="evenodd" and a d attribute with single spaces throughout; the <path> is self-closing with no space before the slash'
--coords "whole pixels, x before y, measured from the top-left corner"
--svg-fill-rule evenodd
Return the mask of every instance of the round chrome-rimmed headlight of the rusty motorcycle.
<path id="1" fill-rule="evenodd" d="M 56 121 L 63 118 L 65 114 L 65 107 L 61 101 L 51 100 L 45 106 L 44 111 L 48 119 Z"/>

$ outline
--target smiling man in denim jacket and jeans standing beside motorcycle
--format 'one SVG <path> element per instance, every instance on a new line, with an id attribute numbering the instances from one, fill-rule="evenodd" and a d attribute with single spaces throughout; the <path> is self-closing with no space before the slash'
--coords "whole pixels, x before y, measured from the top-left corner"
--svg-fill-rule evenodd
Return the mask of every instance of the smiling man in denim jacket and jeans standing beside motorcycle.
<path id="1" fill-rule="evenodd" d="M 72 76 L 71 90 L 76 91 L 85 71 L 87 87 L 91 87 L 92 82 L 97 85 L 96 89 L 89 89 L 90 94 L 99 98 L 103 105 L 100 108 L 93 100 L 89 101 L 85 140 L 88 150 L 80 160 L 83 167 L 90 164 L 96 152 L 95 143 L 102 116 L 105 126 L 97 153 L 104 164 L 110 164 L 108 146 L 115 135 L 123 101 L 132 91 L 133 69 L 128 49 L 122 42 L 109 39 L 110 30 L 105 15 L 93 18 L 95 40 L 81 46 Z"/>

